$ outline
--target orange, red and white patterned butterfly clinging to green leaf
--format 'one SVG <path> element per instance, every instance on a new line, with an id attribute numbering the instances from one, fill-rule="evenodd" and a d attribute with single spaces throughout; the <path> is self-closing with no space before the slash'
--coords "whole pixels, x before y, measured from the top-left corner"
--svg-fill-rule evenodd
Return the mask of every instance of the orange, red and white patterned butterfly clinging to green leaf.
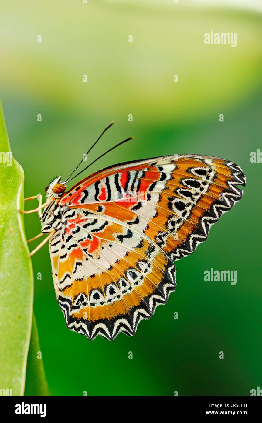
<path id="1" fill-rule="evenodd" d="M 49 233 L 31 255 L 49 241 L 68 328 L 109 340 L 135 335 L 140 320 L 167 302 L 176 289 L 174 261 L 207 239 L 246 184 L 235 163 L 198 154 L 119 163 L 66 191 L 68 181 L 54 179 L 43 205 L 40 195 L 29 198 L 38 197 L 41 234 Z"/>

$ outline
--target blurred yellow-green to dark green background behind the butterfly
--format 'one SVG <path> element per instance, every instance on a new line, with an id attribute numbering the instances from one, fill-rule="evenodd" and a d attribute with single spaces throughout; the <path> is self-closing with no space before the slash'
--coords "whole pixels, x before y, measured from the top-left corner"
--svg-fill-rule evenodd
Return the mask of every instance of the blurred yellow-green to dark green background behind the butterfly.
<path id="1" fill-rule="evenodd" d="M 112 120 L 90 162 L 135 138 L 90 173 L 132 159 L 196 153 L 230 159 L 247 176 L 242 201 L 204 244 L 176 262 L 175 293 L 140 322 L 135 337 L 89 341 L 70 332 L 55 297 L 48 247 L 33 257 L 50 394 L 250 395 L 262 387 L 262 164 L 250 162 L 261 146 L 261 15 L 172 0 L 14 0 L 1 14 L 0 95 L 11 148 L 25 172 L 25 197 L 44 194 L 56 175 L 66 178 Z M 211 30 L 237 33 L 237 47 L 205 45 Z M 37 215 L 25 223 L 28 239 L 40 232 Z M 237 270 L 237 284 L 205 282 L 211 267 Z"/>

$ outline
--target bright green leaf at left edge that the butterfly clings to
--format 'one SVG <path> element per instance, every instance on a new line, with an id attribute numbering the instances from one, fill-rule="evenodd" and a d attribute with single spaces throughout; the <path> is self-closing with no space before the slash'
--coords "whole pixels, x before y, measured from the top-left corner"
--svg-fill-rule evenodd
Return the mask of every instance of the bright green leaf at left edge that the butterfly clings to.
<path id="1" fill-rule="evenodd" d="M 32 261 L 18 211 L 24 209 L 23 187 L 24 171 L 12 156 L 0 103 L 0 389 L 9 395 L 24 394 L 33 316 Z M 38 347 L 35 325 L 31 345 Z M 43 381 L 41 366 L 32 367 Z"/>

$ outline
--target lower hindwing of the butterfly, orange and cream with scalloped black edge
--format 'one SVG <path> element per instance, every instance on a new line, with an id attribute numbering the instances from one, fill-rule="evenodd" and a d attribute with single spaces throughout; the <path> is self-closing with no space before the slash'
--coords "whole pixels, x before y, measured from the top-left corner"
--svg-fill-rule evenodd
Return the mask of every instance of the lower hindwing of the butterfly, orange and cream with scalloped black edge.
<path id="1" fill-rule="evenodd" d="M 149 319 L 176 288 L 175 265 L 127 225 L 81 209 L 73 213 L 68 211 L 64 233 L 49 244 L 67 325 L 90 339 L 113 339 L 120 331 L 134 335 L 140 319 Z"/>

